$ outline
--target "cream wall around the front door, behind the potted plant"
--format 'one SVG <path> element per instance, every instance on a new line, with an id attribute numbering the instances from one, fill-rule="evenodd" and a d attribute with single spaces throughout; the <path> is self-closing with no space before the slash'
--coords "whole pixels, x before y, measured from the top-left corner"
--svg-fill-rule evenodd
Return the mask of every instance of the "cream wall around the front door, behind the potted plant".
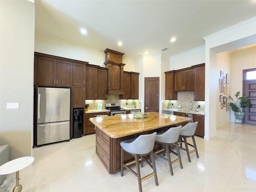
<path id="1" fill-rule="evenodd" d="M 231 75 L 230 75 L 230 96 L 234 99 L 234 94 L 240 91 L 242 96 L 243 70 L 256 68 L 256 47 L 248 48 L 231 54 Z M 234 113 L 231 112 L 231 121 L 234 121 Z"/>

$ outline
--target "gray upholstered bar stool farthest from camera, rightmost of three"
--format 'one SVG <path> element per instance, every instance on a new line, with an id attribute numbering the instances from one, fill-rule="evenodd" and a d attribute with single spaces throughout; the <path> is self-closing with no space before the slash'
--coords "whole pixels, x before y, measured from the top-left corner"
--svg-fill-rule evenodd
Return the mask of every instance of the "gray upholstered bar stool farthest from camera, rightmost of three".
<path id="1" fill-rule="evenodd" d="M 196 126 L 197 122 L 194 123 L 188 123 L 185 126 L 183 126 L 180 130 L 180 149 L 185 150 L 188 155 L 188 161 L 191 162 L 190 160 L 190 153 L 196 152 L 196 157 L 199 158 L 197 148 L 196 148 L 196 140 L 194 137 L 194 134 L 196 132 Z M 187 142 L 187 138 L 191 137 L 193 141 L 193 145 Z M 185 148 L 182 148 L 182 142 L 185 143 Z M 189 150 L 188 145 L 192 146 L 194 149 Z"/>

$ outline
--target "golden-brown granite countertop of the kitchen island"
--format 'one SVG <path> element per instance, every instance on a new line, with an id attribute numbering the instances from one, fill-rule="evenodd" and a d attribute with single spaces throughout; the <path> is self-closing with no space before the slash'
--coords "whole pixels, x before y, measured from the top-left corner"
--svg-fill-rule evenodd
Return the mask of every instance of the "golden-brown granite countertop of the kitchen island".
<path id="1" fill-rule="evenodd" d="M 157 112 L 146 112 L 146 114 L 148 118 L 141 120 L 135 119 L 134 114 L 94 117 L 89 120 L 111 138 L 120 138 L 191 120 L 188 117 Z"/>

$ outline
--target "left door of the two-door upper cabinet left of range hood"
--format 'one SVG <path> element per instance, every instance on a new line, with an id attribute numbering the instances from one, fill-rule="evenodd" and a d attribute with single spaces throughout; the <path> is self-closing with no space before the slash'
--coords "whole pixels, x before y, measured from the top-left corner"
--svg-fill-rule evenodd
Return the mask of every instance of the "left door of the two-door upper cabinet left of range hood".
<path id="1" fill-rule="evenodd" d="M 86 66 L 86 99 L 97 99 L 97 67 Z"/>

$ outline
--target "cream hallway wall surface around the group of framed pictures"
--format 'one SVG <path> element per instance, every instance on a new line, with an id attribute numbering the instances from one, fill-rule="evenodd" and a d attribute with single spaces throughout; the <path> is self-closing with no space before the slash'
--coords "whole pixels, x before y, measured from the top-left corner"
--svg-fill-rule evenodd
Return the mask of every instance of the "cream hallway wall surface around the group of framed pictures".
<path id="1" fill-rule="evenodd" d="M 217 70 L 216 79 L 220 79 L 220 71 L 224 71 L 224 76 L 226 74 L 231 75 L 231 56 L 230 52 L 222 52 L 217 54 L 217 65 L 215 67 Z M 218 73 L 219 71 L 219 73 Z M 228 84 L 230 86 L 230 84 Z M 220 108 L 222 102 L 218 102 L 220 95 L 228 97 L 224 93 L 218 93 L 216 95 L 216 126 L 220 126 L 226 122 L 230 122 L 230 111 L 226 111 L 226 107 Z"/>

